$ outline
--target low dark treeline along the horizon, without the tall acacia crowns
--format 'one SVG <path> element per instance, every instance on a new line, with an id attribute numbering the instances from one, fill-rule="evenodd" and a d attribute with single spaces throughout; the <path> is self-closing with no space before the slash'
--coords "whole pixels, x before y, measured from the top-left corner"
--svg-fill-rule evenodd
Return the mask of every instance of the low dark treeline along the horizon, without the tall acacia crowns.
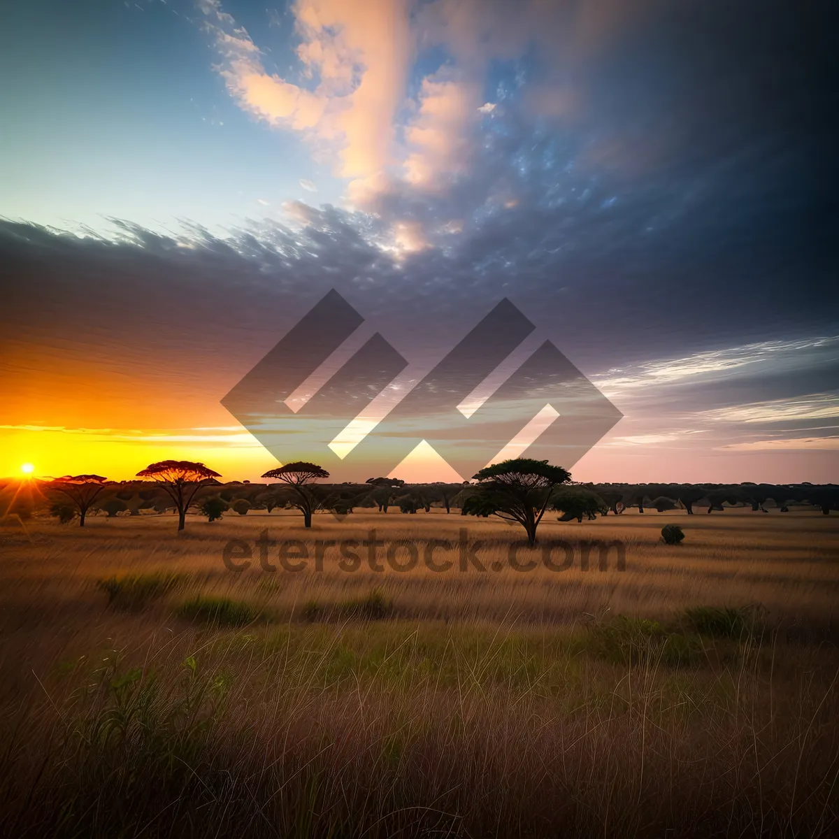
<path id="1" fill-rule="evenodd" d="M 69 479 L 69 480 L 68 480 Z M 62 484 L 63 482 L 63 484 Z M 178 483 L 175 482 L 175 487 Z M 87 515 L 139 516 L 186 513 L 221 519 L 225 514 L 247 515 L 253 510 L 272 513 L 277 509 L 300 509 L 300 495 L 291 483 L 221 482 L 216 477 L 182 482 L 188 498 L 179 504 L 171 485 L 148 480 L 108 481 L 101 476 L 75 476 L 50 482 L 7 480 L 0 484 L 0 515 L 30 519 L 50 514 L 63 522 Z M 365 483 L 306 482 L 312 499 L 311 513 L 346 516 L 356 510 L 387 513 L 430 513 L 432 508 L 466 514 L 475 484 L 471 482 L 409 483 L 395 478 L 370 478 Z M 562 487 L 555 509 L 567 521 L 638 513 L 682 510 L 693 515 L 722 513 L 726 508 L 751 508 L 755 513 L 787 513 L 789 508 L 810 506 L 827 515 L 839 510 L 839 485 L 809 482 L 771 483 L 581 483 Z M 180 506 L 180 509 L 179 509 Z M 182 524 L 181 524 L 182 526 Z"/>

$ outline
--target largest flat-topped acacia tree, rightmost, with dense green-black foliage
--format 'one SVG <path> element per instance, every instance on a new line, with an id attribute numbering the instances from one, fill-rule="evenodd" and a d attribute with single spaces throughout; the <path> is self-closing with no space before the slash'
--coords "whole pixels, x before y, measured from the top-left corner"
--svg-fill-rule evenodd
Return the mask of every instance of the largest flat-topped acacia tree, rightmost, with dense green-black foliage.
<path id="1" fill-rule="evenodd" d="M 570 481 L 571 474 L 548 461 L 516 457 L 486 466 L 474 478 L 477 486 L 464 502 L 466 513 L 518 522 L 532 546 L 554 490 Z"/>

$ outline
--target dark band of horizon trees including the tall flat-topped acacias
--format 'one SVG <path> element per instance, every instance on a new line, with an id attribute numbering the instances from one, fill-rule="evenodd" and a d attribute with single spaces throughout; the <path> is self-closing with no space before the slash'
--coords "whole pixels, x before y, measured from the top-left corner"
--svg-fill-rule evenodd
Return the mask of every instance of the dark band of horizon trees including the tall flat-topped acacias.
<path id="1" fill-rule="evenodd" d="M 364 483 L 329 483 L 330 475 L 315 463 L 294 462 L 269 470 L 263 478 L 277 483 L 221 482 L 221 475 L 203 463 L 160 461 L 138 472 L 141 480 L 108 481 L 101 475 L 66 475 L 45 482 L 8 482 L 0 485 L 0 516 L 29 518 L 46 511 L 63 523 L 78 519 L 84 527 L 90 513 L 108 517 L 143 513 L 177 513 L 178 529 L 190 510 L 208 521 L 226 513 L 247 515 L 251 510 L 294 509 L 312 526 L 315 513 L 346 516 L 356 509 L 391 507 L 401 513 L 429 513 L 443 508 L 462 515 L 490 515 L 520 524 L 534 544 L 539 523 L 549 511 L 560 521 L 694 508 L 706 513 L 727 507 L 769 508 L 788 512 L 792 505 L 810 505 L 827 515 L 839 510 L 836 484 L 718 483 L 580 483 L 561 466 L 517 458 L 487 466 L 466 482 L 407 483 L 393 477 L 371 477 Z"/>

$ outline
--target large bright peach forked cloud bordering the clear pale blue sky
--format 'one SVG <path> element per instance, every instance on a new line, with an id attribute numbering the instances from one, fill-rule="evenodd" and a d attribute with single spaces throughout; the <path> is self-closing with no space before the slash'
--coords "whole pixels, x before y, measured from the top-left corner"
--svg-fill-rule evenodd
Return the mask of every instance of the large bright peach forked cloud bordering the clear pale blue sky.
<path id="1" fill-rule="evenodd" d="M 269 73 L 220 0 L 199 0 L 218 72 L 239 105 L 338 150 L 337 174 L 367 178 L 393 163 L 393 117 L 412 55 L 406 0 L 297 0 L 301 78 Z"/>

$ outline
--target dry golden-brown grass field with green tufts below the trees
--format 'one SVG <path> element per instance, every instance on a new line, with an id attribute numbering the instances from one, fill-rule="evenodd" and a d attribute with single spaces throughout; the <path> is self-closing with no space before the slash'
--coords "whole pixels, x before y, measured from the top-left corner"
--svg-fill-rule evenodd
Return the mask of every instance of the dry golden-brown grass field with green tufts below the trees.
<path id="1" fill-rule="evenodd" d="M 839 517 L 704 513 L 6 521 L 0 832 L 836 836 Z"/>

